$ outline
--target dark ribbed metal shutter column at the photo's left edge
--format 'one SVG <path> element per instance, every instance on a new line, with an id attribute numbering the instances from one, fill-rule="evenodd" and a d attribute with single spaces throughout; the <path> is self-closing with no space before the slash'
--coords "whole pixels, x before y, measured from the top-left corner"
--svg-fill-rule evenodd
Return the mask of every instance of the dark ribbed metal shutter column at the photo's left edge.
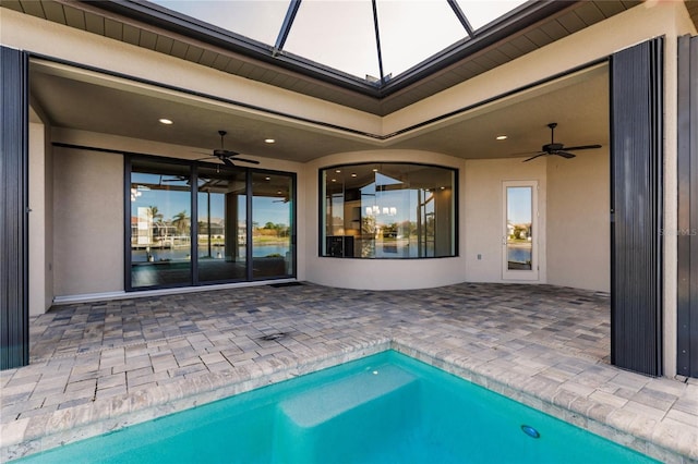
<path id="1" fill-rule="evenodd" d="M 0 47 L 0 369 L 29 363 L 27 68 Z"/>

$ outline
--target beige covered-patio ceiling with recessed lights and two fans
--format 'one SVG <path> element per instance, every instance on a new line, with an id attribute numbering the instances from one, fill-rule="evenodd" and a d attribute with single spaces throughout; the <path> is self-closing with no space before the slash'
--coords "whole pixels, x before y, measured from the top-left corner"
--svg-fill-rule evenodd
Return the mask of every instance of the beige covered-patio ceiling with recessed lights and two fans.
<path id="1" fill-rule="evenodd" d="M 376 148 L 420 149 L 460 158 L 524 157 L 550 143 L 550 130 L 546 127 L 550 122 L 558 123 L 555 142 L 567 146 L 607 145 L 609 141 L 609 77 L 605 65 L 385 141 L 308 122 L 251 115 L 229 103 L 169 90 L 145 91 L 143 85 L 135 83 L 89 80 L 79 72 L 55 72 L 41 63 L 33 63 L 29 82 L 33 105 L 53 126 L 202 150 L 218 148 L 217 131 L 226 130 L 229 133 L 226 148 L 252 158 L 305 162 L 336 152 Z M 159 124 L 157 121 L 164 114 L 176 124 Z M 495 141 L 500 134 L 506 134 L 508 138 Z M 263 141 L 267 137 L 275 138 L 277 143 L 265 144 Z"/>

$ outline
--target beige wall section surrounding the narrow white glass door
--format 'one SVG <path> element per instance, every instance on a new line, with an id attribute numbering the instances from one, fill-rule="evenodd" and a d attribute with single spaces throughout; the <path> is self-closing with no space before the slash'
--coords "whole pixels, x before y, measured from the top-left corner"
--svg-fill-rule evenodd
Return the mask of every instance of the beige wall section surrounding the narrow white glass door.
<path id="1" fill-rule="evenodd" d="M 546 160 L 521 162 L 517 159 L 466 161 L 465 258 L 468 281 L 505 282 L 502 279 L 504 237 L 504 181 L 538 181 L 539 280 L 547 282 L 546 272 Z M 478 259 L 480 255 L 480 259 Z M 512 282 L 512 281 L 506 281 Z M 535 283 L 526 281 L 525 283 Z"/>

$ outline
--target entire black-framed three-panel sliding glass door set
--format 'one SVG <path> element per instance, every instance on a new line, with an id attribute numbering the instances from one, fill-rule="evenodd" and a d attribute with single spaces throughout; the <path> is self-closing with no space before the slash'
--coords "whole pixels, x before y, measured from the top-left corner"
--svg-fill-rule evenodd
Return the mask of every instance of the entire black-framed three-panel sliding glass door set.
<path id="1" fill-rule="evenodd" d="M 294 276 L 293 174 L 145 156 L 129 166 L 128 289 Z"/>

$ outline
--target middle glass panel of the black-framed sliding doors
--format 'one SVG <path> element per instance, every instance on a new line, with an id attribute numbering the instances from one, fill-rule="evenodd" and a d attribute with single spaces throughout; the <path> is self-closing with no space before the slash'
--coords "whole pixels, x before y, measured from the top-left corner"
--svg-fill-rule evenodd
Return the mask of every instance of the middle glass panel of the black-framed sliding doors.
<path id="1" fill-rule="evenodd" d="M 243 170 L 198 168 L 198 281 L 246 279 L 246 184 Z"/>

